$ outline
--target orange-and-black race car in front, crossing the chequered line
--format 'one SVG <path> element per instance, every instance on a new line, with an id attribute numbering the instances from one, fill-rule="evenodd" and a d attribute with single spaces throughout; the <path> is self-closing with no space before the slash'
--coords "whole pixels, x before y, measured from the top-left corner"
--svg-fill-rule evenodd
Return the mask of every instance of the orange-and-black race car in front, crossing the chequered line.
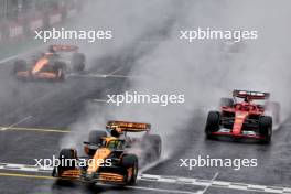
<path id="1" fill-rule="evenodd" d="M 108 121 L 106 131 L 90 131 L 88 142 L 84 142 L 85 157 L 78 157 L 75 149 L 62 149 L 60 160 L 73 159 L 77 161 L 71 165 L 55 166 L 53 176 L 61 180 L 78 180 L 83 182 L 112 183 L 132 185 L 137 182 L 139 157 L 131 152 L 131 148 L 139 143 L 154 143 L 147 154 L 158 159 L 161 154 L 161 138 L 149 134 L 149 123 Z M 140 139 L 130 138 L 128 132 L 146 132 Z M 85 165 L 79 166 L 80 160 Z"/>

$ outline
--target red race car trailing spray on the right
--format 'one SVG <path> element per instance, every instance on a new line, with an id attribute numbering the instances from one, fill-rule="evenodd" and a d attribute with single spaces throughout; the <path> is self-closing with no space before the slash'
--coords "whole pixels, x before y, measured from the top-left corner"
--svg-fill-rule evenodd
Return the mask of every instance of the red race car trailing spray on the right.
<path id="1" fill-rule="evenodd" d="M 233 98 L 220 99 L 220 111 L 208 112 L 206 138 L 228 136 L 269 143 L 273 125 L 280 122 L 280 105 L 269 98 L 269 93 L 234 90 Z"/>

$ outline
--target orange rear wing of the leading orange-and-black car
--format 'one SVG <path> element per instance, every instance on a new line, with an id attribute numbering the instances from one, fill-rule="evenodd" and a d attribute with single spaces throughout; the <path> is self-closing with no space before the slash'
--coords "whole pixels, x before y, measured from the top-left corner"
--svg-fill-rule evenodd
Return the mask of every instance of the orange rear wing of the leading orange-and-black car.
<path id="1" fill-rule="evenodd" d="M 122 132 L 142 132 L 150 131 L 151 125 L 143 122 L 128 122 L 128 121 L 116 121 L 110 120 L 107 122 L 107 129 L 116 129 L 119 128 Z"/>

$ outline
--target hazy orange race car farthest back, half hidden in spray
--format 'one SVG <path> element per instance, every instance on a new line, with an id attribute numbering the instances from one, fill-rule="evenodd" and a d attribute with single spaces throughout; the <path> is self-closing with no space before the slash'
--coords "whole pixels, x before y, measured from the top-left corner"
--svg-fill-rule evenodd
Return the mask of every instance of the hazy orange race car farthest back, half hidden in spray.
<path id="1" fill-rule="evenodd" d="M 50 45 L 46 53 L 31 60 L 17 60 L 13 74 L 19 79 L 64 80 L 66 73 L 80 73 L 85 55 L 74 45 Z"/>

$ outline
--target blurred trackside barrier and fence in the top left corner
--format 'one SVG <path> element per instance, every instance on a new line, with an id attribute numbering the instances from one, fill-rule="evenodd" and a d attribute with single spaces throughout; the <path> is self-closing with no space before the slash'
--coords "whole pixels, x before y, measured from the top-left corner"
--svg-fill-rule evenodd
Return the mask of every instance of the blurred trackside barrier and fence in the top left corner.
<path id="1" fill-rule="evenodd" d="M 61 24 L 83 9 L 77 0 L 0 0 L 0 45 Z M 23 39 L 24 37 L 24 39 Z"/>

